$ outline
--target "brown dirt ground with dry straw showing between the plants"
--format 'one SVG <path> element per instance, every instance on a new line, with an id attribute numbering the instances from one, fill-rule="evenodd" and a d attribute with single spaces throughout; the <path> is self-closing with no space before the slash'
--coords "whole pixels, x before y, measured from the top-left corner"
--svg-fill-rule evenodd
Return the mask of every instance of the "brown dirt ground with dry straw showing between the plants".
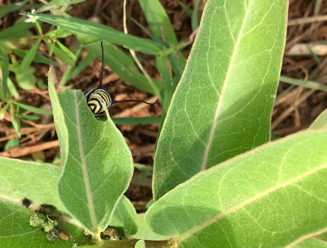
<path id="1" fill-rule="evenodd" d="M 188 40 L 191 30 L 190 17 L 180 7 L 177 0 L 160 0 L 169 15 L 169 18 L 176 31 L 178 40 Z M 184 4 L 192 8 L 192 0 L 181 0 Z M 319 5 L 319 3 L 321 4 Z M 0 5 L 10 4 L 10 0 L 0 3 Z M 30 0 L 30 4 L 35 4 Z M 95 7 L 96 6 L 96 7 Z M 200 7 L 202 11 L 202 7 Z M 82 19 L 91 17 L 98 17 L 100 22 L 104 25 L 111 26 L 114 29 L 123 31 L 123 1 L 103 0 L 101 4 L 96 5 L 96 1 L 88 0 L 75 4 L 73 9 L 69 12 L 70 15 Z M 289 21 L 297 18 L 305 20 L 306 17 L 313 17 L 317 15 L 327 14 L 326 1 L 311 1 L 311 0 L 290 0 L 289 2 Z M 147 27 L 145 16 L 141 11 L 137 0 L 129 0 L 127 6 L 128 17 L 133 17 L 142 25 Z M 11 26 L 18 18 L 18 12 L 8 14 L 3 18 L 1 30 Z M 47 25 L 47 24 L 43 24 Z M 138 28 L 132 21 L 127 21 L 128 30 L 132 35 L 148 38 L 145 32 Z M 37 33 L 34 30 L 35 34 Z M 327 22 L 311 22 L 300 25 L 291 25 L 287 28 L 285 54 L 296 43 L 309 43 L 315 41 L 325 41 L 327 37 Z M 70 36 L 60 41 L 71 49 L 74 37 Z M 187 58 L 191 46 L 183 50 L 183 55 Z M 123 49 L 123 48 L 121 48 Z M 123 49 L 124 50 L 124 49 Z M 40 46 L 39 53 L 47 57 L 48 50 L 43 44 Z M 87 53 L 82 53 L 82 58 Z M 150 76 L 160 79 L 160 75 L 155 67 L 155 60 L 153 56 L 138 54 L 144 58 L 143 66 Z M 19 59 L 19 58 L 17 58 Z M 55 59 L 55 57 L 52 57 Z M 327 56 L 319 57 L 321 61 L 320 68 L 317 67 L 316 60 L 311 56 L 287 56 L 284 55 L 281 75 L 297 79 L 308 79 L 317 81 L 322 84 L 327 83 L 326 77 L 326 63 Z M 18 60 L 19 61 L 19 60 Z M 19 61 L 20 62 L 20 61 Z M 62 73 L 66 70 L 66 66 L 59 60 L 56 70 L 56 77 L 60 79 Z M 36 76 L 41 77 L 46 82 L 48 66 L 44 64 L 32 63 L 36 69 Z M 101 61 L 93 61 L 81 74 L 74 77 L 68 83 L 68 86 L 74 89 L 86 90 L 95 87 L 98 84 L 100 74 Z M 14 77 L 10 75 L 14 81 Z M 149 94 L 139 91 L 124 82 L 122 79 L 115 76 L 108 66 L 105 67 L 104 80 L 109 82 L 109 91 L 112 92 L 115 99 L 146 99 L 150 97 Z M 17 85 L 16 85 L 17 86 Z M 278 86 L 277 95 L 287 89 L 290 85 L 281 82 Z M 19 90 L 21 98 L 24 98 L 26 104 L 41 107 L 48 106 L 50 103 L 47 91 L 34 89 L 31 91 Z M 276 101 L 273 115 L 272 115 L 272 132 L 273 136 L 283 137 L 285 135 L 294 133 L 301 129 L 305 129 L 312 121 L 327 107 L 326 100 L 327 92 L 315 91 L 302 87 L 295 87 L 293 90 L 286 93 L 283 97 Z M 21 99 L 20 99 L 21 100 Z M 118 114 L 120 116 L 157 116 L 161 115 L 162 107 L 159 104 L 154 106 L 142 105 L 142 108 L 137 112 L 130 111 L 135 106 L 133 103 L 124 103 L 120 105 L 113 105 L 110 109 L 111 115 L 114 117 Z M 40 158 L 44 161 L 52 161 L 59 154 L 59 147 L 56 143 L 57 136 L 55 134 L 54 125 L 42 124 L 40 122 L 26 121 L 29 127 L 22 128 L 22 138 L 20 139 L 20 150 L 26 151 L 27 146 L 40 145 L 42 142 L 49 143 L 49 149 L 44 152 L 34 152 L 33 154 L 26 154 L 25 158 Z M 130 149 L 132 151 L 134 162 L 152 165 L 153 148 L 157 136 L 159 125 L 119 125 L 119 130 L 126 137 Z M 41 137 L 47 134 L 46 141 L 41 141 Z M 3 151 L 6 142 L 15 137 L 15 131 L 11 128 L 10 115 L 6 113 L 5 119 L 0 122 L 0 152 Z M 41 147 L 41 146 L 40 146 Z M 139 175 L 140 171 L 135 170 L 134 175 Z M 142 172 L 144 174 L 144 172 Z M 148 173 L 149 174 L 149 173 Z M 150 175 L 147 178 L 150 182 Z M 131 184 L 126 192 L 126 196 L 133 202 L 137 210 L 142 210 L 147 201 L 152 198 L 152 192 L 148 186 L 140 186 Z"/>

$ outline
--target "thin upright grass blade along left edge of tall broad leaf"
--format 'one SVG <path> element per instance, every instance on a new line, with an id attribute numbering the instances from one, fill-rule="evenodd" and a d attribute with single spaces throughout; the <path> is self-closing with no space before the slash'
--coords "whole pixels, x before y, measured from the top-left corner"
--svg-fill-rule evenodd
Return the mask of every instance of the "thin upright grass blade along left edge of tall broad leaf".
<path id="1" fill-rule="evenodd" d="M 158 137 L 160 135 L 162 126 L 163 126 L 163 122 L 166 118 L 166 114 L 168 111 L 168 107 L 170 105 L 170 101 L 171 98 L 174 94 L 174 84 L 173 84 L 173 77 L 171 75 L 171 73 L 169 72 L 169 66 L 168 66 L 168 61 L 167 61 L 167 57 L 165 56 L 157 56 L 156 58 L 156 66 L 157 69 L 163 79 L 163 84 L 164 84 L 164 99 L 163 99 L 163 111 L 161 114 L 161 121 L 160 121 L 160 126 L 159 126 L 159 131 L 158 131 L 158 136 L 157 136 L 157 140 L 156 140 L 156 144 L 154 146 L 154 152 L 156 151 L 156 147 L 157 147 L 157 141 L 158 141 Z"/>

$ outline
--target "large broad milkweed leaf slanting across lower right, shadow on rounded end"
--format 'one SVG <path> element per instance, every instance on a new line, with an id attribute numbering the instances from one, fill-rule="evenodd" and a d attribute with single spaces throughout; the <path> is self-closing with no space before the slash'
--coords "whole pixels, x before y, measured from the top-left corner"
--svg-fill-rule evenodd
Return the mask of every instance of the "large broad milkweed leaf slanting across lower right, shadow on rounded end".
<path id="1" fill-rule="evenodd" d="M 291 247 L 327 230 L 326 146 L 326 129 L 269 142 L 177 186 L 146 223 L 181 247 Z"/>

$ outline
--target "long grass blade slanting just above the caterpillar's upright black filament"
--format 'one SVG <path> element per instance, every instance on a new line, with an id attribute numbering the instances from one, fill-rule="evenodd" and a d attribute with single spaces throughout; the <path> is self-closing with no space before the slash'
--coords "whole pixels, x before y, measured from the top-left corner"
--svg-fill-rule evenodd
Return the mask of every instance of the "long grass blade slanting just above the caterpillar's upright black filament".
<path id="1" fill-rule="evenodd" d="M 135 51 L 139 51 L 145 54 L 156 55 L 159 54 L 163 49 L 162 45 L 159 45 L 151 40 L 128 35 L 113 28 L 94 22 L 81 20 L 70 16 L 44 14 L 32 15 L 38 16 L 39 19 L 44 22 L 72 30 L 74 32 L 93 36 L 98 39 L 110 41 L 122 46 L 133 46 L 135 47 Z"/>

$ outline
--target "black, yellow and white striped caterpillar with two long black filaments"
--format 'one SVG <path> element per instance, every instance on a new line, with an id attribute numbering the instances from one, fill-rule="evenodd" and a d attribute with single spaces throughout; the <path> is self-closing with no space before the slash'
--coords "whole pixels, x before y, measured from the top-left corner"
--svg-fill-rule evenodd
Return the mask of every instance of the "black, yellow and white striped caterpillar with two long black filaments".
<path id="1" fill-rule="evenodd" d="M 99 86 L 97 88 L 93 88 L 92 90 L 84 92 L 87 106 L 89 106 L 95 118 L 101 117 L 105 113 L 105 108 L 109 109 L 111 105 L 115 103 L 141 102 L 141 103 L 153 105 L 158 102 L 158 99 L 154 103 L 148 103 L 142 100 L 121 100 L 121 101 L 113 100 L 111 94 L 107 90 L 102 88 L 103 57 L 104 57 L 102 41 L 101 41 L 101 48 L 102 48 L 102 65 L 101 65 Z"/>

